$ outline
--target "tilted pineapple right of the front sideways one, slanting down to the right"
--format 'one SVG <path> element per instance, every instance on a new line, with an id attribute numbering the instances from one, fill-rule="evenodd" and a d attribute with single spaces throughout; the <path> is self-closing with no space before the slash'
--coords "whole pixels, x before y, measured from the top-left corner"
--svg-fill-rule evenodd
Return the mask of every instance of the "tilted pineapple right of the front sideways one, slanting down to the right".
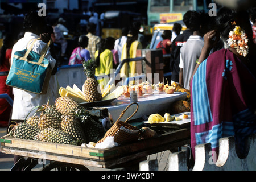
<path id="1" fill-rule="evenodd" d="M 61 129 L 65 133 L 71 135 L 74 139 L 79 140 L 80 142 L 85 141 L 85 135 L 80 120 L 75 115 L 63 115 Z"/>

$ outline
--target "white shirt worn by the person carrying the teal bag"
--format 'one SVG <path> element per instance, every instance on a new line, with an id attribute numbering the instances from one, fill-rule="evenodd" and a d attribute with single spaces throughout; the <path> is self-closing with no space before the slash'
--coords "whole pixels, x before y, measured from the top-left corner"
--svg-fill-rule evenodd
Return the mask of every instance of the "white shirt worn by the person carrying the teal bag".
<path id="1" fill-rule="evenodd" d="M 39 36 L 30 32 L 26 32 L 24 34 L 24 37 L 19 39 L 18 42 L 14 45 L 13 51 L 11 53 L 11 62 L 13 63 L 13 56 L 16 51 L 22 51 L 23 49 L 26 49 L 28 42 L 30 42 L 31 39 L 36 39 L 36 38 L 39 38 Z M 42 51 L 44 46 L 46 46 L 46 43 L 44 43 L 42 40 L 38 40 L 35 42 L 32 48 L 32 51 L 36 53 L 40 53 L 40 51 Z M 53 57 L 51 56 L 49 49 L 46 52 L 45 57 L 50 61 L 51 67 L 54 68 L 56 60 L 53 59 Z M 47 93 L 43 95 L 30 93 L 21 89 L 13 88 L 14 102 L 13 102 L 13 114 L 11 119 L 12 120 L 25 119 L 28 113 L 30 113 L 30 111 L 34 107 L 47 104 L 48 99 L 49 99 L 49 104 L 53 105 L 55 103 L 58 91 L 59 90 L 57 90 L 57 80 L 55 76 L 51 76 Z M 29 116 L 33 115 L 34 113 L 35 113 L 35 110 L 32 111 Z"/>

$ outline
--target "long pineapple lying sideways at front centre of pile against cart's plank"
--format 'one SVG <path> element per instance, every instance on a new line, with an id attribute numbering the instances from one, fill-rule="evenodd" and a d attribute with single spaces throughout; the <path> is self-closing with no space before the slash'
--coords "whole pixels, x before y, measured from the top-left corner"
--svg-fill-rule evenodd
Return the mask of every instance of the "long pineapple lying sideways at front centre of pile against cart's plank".
<path id="1" fill-rule="evenodd" d="M 71 137 L 71 135 L 65 133 L 59 129 L 47 128 L 37 135 L 37 140 L 51 143 L 62 143 L 62 144 L 74 144 L 77 145 L 77 141 Z"/>

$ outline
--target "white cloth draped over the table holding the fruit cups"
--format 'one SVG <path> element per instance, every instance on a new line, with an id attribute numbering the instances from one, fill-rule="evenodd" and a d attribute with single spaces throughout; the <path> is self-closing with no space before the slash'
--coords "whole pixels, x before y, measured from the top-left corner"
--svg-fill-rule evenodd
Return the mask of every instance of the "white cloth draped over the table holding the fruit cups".
<path id="1" fill-rule="evenodd" d="M 174 92 L 167 94 L 165 92 L 154 92 L 153 94 L 145 94 L 144 96 L 138 97 L 139 110 L 131 119 L 141 118 L 153 113 L 158 113 L 163 110 L 170 109 L 172 103 L 179 100 L 185 100 L 187 93 Z M 120 96 L 109 105 L 102 106 L 108 109 L 113 121 L 117 121 L 119 115 L 125 108 L 131 104 L 130 98 Z M 129 117 L 136 106 L 131 106 L 130 110 L 127 110 L 123 118 Z"/>

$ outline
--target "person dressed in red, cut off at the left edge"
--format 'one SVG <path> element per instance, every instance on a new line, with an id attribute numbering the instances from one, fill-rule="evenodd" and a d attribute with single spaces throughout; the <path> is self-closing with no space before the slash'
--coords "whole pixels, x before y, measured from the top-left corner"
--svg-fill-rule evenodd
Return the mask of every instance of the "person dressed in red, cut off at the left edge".
<path id="1" fill-rule="evenodd" d="M 0 72 L 6 72 L 6 75 L 0 76 L 0 94 L 8 94 L 13 99 L 13 89 L 6 85 L 7 72 L 11 65 L 11 51 L 14 45 L 13 35 L 7 34 L 3 38 L 3 46 L 0 49 Z M 7 127 L 11 119 L 11 110 L 13 106 L 5 98 L 0 99 L 0 127 Z"/>

